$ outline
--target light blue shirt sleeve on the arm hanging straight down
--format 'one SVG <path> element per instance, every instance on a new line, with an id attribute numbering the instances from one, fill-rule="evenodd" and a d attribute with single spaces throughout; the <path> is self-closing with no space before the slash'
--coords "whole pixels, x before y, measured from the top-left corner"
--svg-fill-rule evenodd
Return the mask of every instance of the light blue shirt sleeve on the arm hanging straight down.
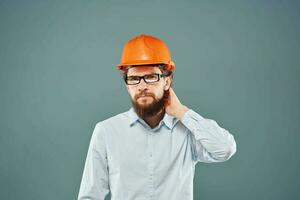
<path id="1" fill-rule="evenodd" d="M 98 123 L 93 131 L 81 179 L 78 200 L 104 200 L 109 193 L 104 129 Z"/>

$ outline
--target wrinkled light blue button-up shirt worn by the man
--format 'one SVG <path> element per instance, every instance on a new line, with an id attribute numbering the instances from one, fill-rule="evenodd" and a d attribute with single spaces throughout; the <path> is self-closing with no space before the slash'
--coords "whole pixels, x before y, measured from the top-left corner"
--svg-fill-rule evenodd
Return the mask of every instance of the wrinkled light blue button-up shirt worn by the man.
<path id="1" fill-rule="evenodd" d="M 196 163 L 235 152 L 233 135 L 192 109 L 152 129 L 130 108 L 96 124 L 78 200 L 192 200 Z"/>

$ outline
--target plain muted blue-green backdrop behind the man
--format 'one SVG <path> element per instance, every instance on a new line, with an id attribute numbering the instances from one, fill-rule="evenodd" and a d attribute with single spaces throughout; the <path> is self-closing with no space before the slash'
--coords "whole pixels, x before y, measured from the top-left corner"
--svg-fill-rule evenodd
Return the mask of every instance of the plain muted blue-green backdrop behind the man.
<path id="1" fill-rule="evenodd" d="M 1 0 L 1 199 L 76 199 L 98 121 L 130 107 L 116 64 L 163 39 L 179 99 L 235 136 L 194 199 L 300 199 L 299 1 Z"/>

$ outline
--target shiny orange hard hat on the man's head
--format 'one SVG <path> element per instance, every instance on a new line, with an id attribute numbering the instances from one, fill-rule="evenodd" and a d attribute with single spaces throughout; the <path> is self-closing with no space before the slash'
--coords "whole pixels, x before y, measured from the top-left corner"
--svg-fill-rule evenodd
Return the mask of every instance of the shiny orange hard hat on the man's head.
<path id="1" fill-rule="evenodd" d="M 117 65 L 117 69 L 124 70 L 128 65 L 149 64 L 163 64 L 169 71 L 175 69 L 167 45 L 159 38 L 141 34 L 124 45 L 121 63 Z"/>

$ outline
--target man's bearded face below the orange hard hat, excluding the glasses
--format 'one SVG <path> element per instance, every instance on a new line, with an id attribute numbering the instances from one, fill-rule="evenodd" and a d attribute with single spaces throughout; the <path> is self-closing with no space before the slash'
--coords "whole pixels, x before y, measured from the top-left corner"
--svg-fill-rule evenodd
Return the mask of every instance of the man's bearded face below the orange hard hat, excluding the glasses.
<path id="1" fill-rule="evenodd" d="M 127 77 L 162 74 L 158 67 L 138 66 L 128 69 Z M 160 77 L 158 82 L 145 83 L 143 79 L 137 85 L 127 85 L 128 93 L 136 113 L 144 118 L 157 114 L 164 108 L 171 84 L 170 77 Z"/>

